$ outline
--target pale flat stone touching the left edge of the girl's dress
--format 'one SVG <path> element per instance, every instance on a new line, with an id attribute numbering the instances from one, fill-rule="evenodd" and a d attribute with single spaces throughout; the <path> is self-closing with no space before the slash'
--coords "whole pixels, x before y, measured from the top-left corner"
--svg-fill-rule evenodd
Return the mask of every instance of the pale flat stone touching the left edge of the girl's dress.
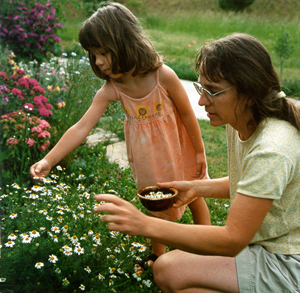
<path id="1" fill-rule="evenodd" d="M 129 168 L 125 141 L 108 145 L 106 148 L 106 156 L 111 164 L 116 163 L 120 168 Z"/>

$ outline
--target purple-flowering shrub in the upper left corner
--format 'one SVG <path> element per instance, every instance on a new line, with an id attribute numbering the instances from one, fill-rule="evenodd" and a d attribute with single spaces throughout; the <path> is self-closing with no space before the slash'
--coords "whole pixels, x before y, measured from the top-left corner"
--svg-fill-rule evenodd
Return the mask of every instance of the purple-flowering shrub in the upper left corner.
<path id="1" fill-rule="evenodd" d="M 51 53 L 60 52 L 60 38 L 56 35 L 62 24 L 55 17 L 55 9 L 46 5 L 6 0 L 0 14 L 0 40 L 15 52 L 18 59 L 39 62 Z M 49 54 L 50 53 L 50 54 Z"/>

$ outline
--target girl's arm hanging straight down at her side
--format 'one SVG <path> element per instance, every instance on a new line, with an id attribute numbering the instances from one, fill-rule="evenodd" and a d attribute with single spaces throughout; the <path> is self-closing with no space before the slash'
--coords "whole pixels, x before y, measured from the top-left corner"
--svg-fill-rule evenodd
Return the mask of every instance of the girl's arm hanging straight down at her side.
<path id="1" fill-rule="evenodd" d="M 202 178 L 206 174 L 206 158 L 200 127 L 191 106 L 189 97 L 176 73 L 168 66 L 160 69 L 160 83 L 172 98 L 196 154 L 196 177 Z"/>

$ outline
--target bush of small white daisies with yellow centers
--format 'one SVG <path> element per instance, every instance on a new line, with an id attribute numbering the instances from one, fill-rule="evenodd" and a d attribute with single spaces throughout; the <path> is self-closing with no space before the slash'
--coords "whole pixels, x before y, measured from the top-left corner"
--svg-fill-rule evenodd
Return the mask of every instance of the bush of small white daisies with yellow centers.
<path id="1" fill-rule="evenodd" d="M 147 240 L 109 231 L 93 212 L 101 204 L 96 193 L 140 205 L 126 177 L 88 178 L 57 166 L 36 185 L 7 186 L 0 195 L 1 246 L 11 265 L 0 278 L 14 292 L 155 292 L 150 269 L 139 274 L 135 267 L 149 253 Z"/>

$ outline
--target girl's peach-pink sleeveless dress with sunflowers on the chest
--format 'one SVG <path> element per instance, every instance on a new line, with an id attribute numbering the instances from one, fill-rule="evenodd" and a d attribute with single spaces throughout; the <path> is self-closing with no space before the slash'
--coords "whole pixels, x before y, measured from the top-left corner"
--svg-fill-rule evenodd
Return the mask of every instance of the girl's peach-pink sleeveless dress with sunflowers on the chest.
<path id="1" fill-rule="evenodd" d="M 145 97 L 134 99 L 112 85 L 125 112 L 124 131 L 129 164 L 137 187 L 157 182 L 193 180 L 195 151 L 179 113 L 167 91 L 159 83 Z M 185 206 L 149 214 L 179 220 Z"/>

